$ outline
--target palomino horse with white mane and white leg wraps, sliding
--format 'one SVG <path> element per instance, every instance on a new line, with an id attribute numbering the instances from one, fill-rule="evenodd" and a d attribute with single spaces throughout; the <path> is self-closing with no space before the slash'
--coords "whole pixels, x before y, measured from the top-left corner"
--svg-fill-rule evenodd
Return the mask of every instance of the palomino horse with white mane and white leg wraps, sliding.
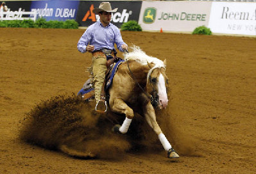
<path id="1" fill-rule="evenodd" d="M 132 108 L 139 107 L 167 151 L 167 157 L 178 158 L 179 155 L 161 131 L 152 106 L 153 103 L 160 109 L 167 107 L 166 60 L 150 57 L 139 47 L 126 53 L 124 59 L 126 61 L 119 66 L 109 90 L 110 109 L 126 115 L 122 125 L 115 125 L 114 132 L 125 134 L 134 116 Z"/>

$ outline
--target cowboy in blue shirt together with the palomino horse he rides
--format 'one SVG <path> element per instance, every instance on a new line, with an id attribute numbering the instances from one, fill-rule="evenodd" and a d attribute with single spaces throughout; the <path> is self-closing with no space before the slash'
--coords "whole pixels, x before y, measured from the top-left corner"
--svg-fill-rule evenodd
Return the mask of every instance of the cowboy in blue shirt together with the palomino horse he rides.
<path id="1" fill-rule="evenodd" d="M 101 3 L 99 8 L 95 8 L 92 12 L 98 14 L 100 20 L 89 26 L 78 42 L 78 51 L 92 52 L 96 111 L 98 109 L 104 111 L 103 108 L 107 108 L 105 99 L 101 97 L 101 90 L 105 81 L 107 59 L 116 54 L 114 43 L 120 51 L 124 52 L 128 49 L 119 29 L 110 23 L 112 12 L 116 10 L 117 8 L 112 10 L 110 3 Z M 167 151 L 167 157 L 178 158 L 179 155 L 157 123 L 153 107 L 155 105 L 162 109 L 167 106 L 166 61 L 152 58 L 136 48 L 133 52 L 125 54 L 124 59 L 126 59 L 125 63 L 119 66 L 113 84 L 108 90 L 111 111 L 126 116 L 123 124 L 115 125 L 113 131 L 120 134 L 128 131 L 134 116 L 132 108 L 139 104 L 142 115 Z"/>

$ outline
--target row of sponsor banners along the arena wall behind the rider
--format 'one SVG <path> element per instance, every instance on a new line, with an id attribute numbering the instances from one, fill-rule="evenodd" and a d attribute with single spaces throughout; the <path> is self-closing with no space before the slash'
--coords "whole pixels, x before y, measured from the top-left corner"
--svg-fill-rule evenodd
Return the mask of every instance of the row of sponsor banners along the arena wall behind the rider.
<path id="1" fill-rule="evenodd" d="M 6 1 L 11 11 L 36 11 L 46 20 L 74 19 L 88 27 L 99 20 L 92 9 L 102 1 Z M 187 32 L 207 26 L 213 33 L 256 36 L 256 2 L 111 1 L 112 23 L 137 20 L 144 31 Z"/>

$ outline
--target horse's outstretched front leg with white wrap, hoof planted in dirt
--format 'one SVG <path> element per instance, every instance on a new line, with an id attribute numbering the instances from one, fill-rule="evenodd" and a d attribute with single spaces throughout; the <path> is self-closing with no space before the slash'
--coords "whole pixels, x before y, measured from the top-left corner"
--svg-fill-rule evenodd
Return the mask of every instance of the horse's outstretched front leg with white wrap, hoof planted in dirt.
<path id="1" fill-rule="evenodd" d="M 167 157 L 168 158 L 180 157 L 175 152 L 175 150 L 171 147 L 171 144 L 169 143 L 166 136 L 163 134 L 162 130 L 160 129 L 155 116 L 155 109 L 153 108 L 150 102 L 148 102 L 148 104 L 144 106 L 143 111 L 149 126 L 152 127 L 152 129 L 156 132 L 160 142 L 164 146 L 164 149 L 167 151 Z"/>

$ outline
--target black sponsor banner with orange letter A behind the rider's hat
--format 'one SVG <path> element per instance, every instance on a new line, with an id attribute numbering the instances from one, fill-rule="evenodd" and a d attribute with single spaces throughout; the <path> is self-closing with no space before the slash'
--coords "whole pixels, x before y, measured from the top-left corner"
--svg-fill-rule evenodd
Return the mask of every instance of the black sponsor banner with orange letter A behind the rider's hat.
<path id="1" fill-rule="evenodd" d="M 102 1 L 80 1 L 76 21 L 80 26 L 90 26 L 97 20 L 99 15 L 92 12 L 94 8 L 98 8 Z M 111 1 L 112 9 L 118 8 L 117 12 L 112 13 L 111 23 L 118 28 L 128 20 L 139 20 L 141 11 L 141 1 Z"/>

